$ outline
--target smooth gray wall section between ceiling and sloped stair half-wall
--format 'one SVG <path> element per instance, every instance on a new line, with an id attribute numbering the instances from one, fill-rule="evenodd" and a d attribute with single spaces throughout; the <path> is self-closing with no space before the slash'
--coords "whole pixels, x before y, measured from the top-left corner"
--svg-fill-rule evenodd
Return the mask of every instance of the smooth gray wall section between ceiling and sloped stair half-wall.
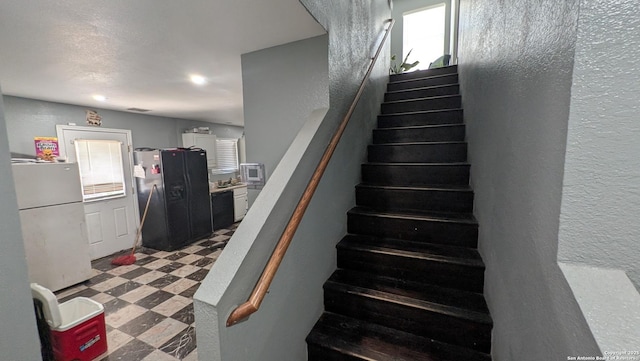
<path id="1" fill-rule="evenodd" d="M 311 111 L 329 106 L 327 35 L 242 55 L 247 162 L 276 168 Z M 249 204 L 259 194 L 249 190 Z"/>

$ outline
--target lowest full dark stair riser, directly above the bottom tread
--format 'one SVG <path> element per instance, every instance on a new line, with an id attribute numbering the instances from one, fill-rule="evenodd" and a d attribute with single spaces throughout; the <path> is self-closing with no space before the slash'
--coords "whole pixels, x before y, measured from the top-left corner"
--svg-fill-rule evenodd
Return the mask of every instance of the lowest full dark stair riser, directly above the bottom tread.
<path id="1" fill-rule="evenodd" d="M 491 326 L 325 287 L 325 309 L 423 337 L 488 352 Z"/>

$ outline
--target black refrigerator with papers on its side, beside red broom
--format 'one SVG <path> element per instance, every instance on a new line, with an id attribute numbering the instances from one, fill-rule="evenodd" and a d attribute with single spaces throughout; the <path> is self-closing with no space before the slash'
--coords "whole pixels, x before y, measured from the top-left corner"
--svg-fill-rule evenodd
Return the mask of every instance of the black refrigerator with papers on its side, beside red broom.
<path id="1" fill-rule="evenodd" d="M 206 152 L 139 148 L 134 160 L 140 217 L 157 186 L 142 227 L 142 245 L 172 251 L 209 237 L 213 224 Z"/>

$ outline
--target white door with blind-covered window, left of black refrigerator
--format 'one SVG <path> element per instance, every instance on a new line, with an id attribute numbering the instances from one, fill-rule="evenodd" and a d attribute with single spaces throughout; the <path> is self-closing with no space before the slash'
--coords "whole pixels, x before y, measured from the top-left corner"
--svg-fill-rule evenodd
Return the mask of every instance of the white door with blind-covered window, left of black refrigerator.
<path id="1" fill-rule="evenodd" d="M 139 225 L 131 131 L 57 125 L 60 155 L 78 163 L 91 259 L 133 246 Z"/>

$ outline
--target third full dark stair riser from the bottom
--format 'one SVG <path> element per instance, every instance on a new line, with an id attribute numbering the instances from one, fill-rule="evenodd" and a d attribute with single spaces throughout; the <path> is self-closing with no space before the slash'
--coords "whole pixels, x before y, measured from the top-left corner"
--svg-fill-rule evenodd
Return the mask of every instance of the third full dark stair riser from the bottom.
<path id="1" fill-rule="evenodd" d="M 407 241 L 472 248 L 478 245 L 478 226 L 476 224 L 349 213 L 347 229 L 352 234 Z"/>

